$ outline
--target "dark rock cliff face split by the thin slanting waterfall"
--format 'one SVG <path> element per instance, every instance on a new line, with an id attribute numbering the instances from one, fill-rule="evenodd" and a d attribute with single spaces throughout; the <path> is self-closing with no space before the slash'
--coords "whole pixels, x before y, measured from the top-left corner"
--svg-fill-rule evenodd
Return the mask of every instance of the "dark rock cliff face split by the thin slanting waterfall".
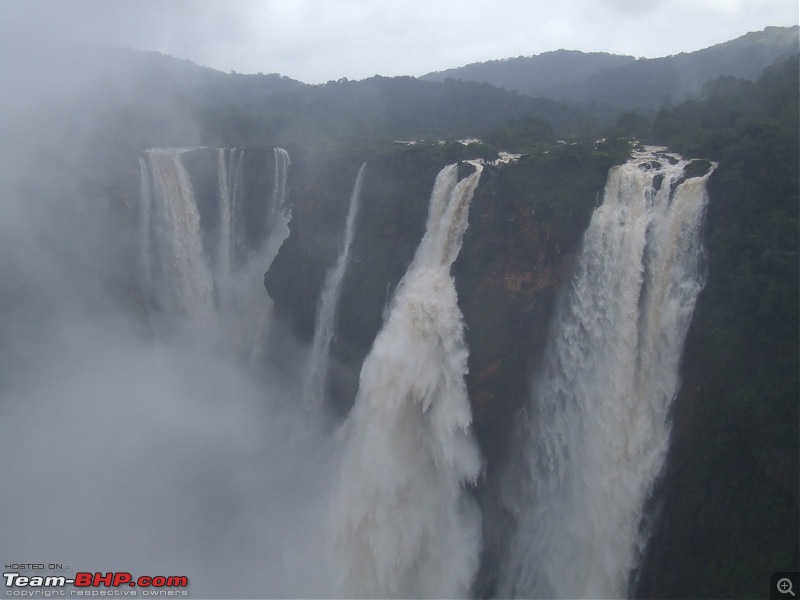
<path id="1" fill-rule="evenodd" d="M 310 341 L 325 273 L 339 254 L 364 157 L 303 151 L 292 156 L 291 233 L 264 282 L 278 314 Z M 430 158 L 414 148 L 369 157 L 331 348 L 329 391 L 342 412 L 355 398 L 361 362 L 381 327 L 384 305 L 422 238 L 430 187 L 445 164 Z"/>

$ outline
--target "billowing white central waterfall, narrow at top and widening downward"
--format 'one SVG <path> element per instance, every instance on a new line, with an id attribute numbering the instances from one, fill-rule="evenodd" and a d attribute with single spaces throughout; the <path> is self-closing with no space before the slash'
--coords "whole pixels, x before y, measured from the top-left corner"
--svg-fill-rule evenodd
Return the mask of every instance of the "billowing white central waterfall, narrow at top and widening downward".
<path id="1" fill-rule="evenodd" d="M 425 235 L 361 370 L 332 504 L 341 597 L 467 597 L 480 513 L 465 491 L 481 461 L 469 427 L 468 350 L 450 266 L 482 165 L 445 167 Z"/>

